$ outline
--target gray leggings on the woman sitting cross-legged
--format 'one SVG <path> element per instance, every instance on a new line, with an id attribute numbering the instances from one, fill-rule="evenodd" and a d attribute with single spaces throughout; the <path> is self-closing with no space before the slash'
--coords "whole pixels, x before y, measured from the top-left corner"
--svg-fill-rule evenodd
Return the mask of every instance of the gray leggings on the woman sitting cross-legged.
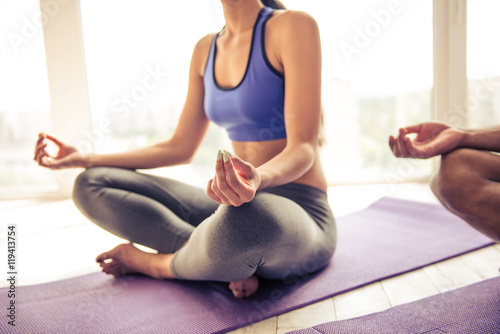
<path id="1" fill-rule="evenodd" d="M 326 266 L 335 250 L 326 193 L 298 183 L 258 191 L 233 207 L 172 179 L 94 167 L 76 179 L 73 200 L 105 230 L 175 253 L 171 269 L 179 279 L 286 279 Z"/>

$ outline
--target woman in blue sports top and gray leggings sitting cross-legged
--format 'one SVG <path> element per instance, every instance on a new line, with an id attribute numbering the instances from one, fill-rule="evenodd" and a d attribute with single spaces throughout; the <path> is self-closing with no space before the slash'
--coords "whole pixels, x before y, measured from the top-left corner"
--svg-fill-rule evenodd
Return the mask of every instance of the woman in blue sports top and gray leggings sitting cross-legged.
<path id="1" fill-rule="evenodd" d="M 131 242 L 97 256 L 104 272 L 225 281 L 243 298 L 257 290 L 257 277 L 286 279 L 327 265 L 336 228 L 318 157 L 316 22 L 274 1 L 265 3 L 278 10 L 261 0 L 221 2 L 226 25 L 194 48 L 186 103 L 169 140 L 82 155 L 41 134 L 35 160 L 86 168 L 75 182 L 76 206 Z M 205 191 L 134 171 L 189 162 L 210 120 L 226 128 L 235 156 L 217 152 Z M 45 140 L 59 147 L 56 156 Z"/>

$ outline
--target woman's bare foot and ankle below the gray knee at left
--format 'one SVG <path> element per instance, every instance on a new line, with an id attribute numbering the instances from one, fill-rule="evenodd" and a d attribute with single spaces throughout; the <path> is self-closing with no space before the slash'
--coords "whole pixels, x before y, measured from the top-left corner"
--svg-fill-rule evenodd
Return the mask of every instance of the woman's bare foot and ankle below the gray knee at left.
<path id="1" fill-rule="evenodd" d="M 121 244 L 97 256 L 106 274 L 123 276 L 141 273 L 154 278 L 175 278 L 170 271 L 172 254 L 143 252 L 132 244 Z"/>

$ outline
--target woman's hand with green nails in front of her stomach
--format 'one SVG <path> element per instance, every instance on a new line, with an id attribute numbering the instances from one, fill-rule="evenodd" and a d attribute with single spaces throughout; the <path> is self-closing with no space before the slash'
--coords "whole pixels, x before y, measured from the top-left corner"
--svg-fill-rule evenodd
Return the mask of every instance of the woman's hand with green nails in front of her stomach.
<path id="1" fill-rule="evenodd" d="M 260 174 L 252 164 L 219 150 L 207 195 L 219 204 L 240 206 L 254 198 L 260 182 Z"/>

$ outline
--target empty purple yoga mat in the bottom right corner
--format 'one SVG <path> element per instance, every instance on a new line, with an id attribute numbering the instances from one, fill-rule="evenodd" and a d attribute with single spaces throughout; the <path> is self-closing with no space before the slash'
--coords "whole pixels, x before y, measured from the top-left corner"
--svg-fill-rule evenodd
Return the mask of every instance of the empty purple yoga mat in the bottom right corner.
<path id="1" fill-rule="evenodd" d="M 290 334 L 498 334 L 500 277 L 359 318 Z"/>

